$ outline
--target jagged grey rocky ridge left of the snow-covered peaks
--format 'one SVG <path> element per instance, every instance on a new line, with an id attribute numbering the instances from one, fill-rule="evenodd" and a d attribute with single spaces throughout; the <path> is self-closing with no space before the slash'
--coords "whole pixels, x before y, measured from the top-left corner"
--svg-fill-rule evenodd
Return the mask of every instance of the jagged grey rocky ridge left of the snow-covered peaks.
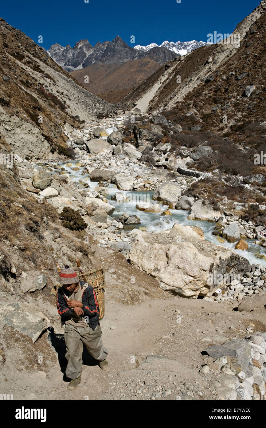
<path id="1" fill-rule="evenodd" d="M 155 47 L 149 51 L 138 51 L 127 45 L 119 36 L 112 42 L 97 42 L 95 46 L 91 46 L 88 40 L 80 40 L 73 48 L 70 45 L 63 47 L 56 43 L 50 47 L 48 53 L 67 71 L 88 67 L 96 61 L 103 64 L 115 64 L 144 57 L 164 64 L 178 56 L 164 46 Z"/>

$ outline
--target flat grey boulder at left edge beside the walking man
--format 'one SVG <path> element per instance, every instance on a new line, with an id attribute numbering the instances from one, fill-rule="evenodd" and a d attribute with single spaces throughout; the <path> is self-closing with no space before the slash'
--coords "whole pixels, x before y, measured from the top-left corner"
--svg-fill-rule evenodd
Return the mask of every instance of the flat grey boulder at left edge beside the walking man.
<path id="1" fill-rule="evenodd" d="M 14 327 L 29 336 L 33 342 L 36 342 L 49 324 L 48 318 L 36 306 L 28 303 L 12 302 L 0 306 L 0 327 Z"/>

